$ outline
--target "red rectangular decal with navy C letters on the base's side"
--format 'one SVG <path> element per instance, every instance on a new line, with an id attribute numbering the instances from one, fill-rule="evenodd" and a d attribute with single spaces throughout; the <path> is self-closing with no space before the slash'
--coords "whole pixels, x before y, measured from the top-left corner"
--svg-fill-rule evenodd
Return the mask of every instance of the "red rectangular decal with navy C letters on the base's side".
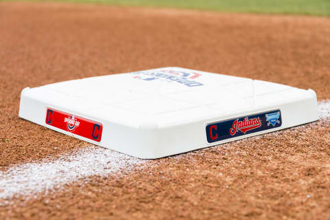
<path id="1" fill-rule="evenodd" d="M 76 135 L 86 137 L 96 142 L 101 141 L 103 125 L 100 122 L 47 108 L 46 124 L 54 126 L 63 131 L 69 131 Z"/>

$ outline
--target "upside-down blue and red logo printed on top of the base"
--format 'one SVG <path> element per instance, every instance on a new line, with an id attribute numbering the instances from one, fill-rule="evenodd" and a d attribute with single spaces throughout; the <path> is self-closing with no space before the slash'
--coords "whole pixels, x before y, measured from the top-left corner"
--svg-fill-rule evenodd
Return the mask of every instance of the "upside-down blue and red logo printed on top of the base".
<path id="1" fill-rule="evenodd" d="M 133 78 L 145 81 L 162 80 L 166 83 L 179 83 L 187 87 L 199 87 L 203 86 L 203 83 L 197 82 L 197 78 L 201 74 L 197 72 L 184 72 L 174 69 L 161 69 L 161 70 L 147 70 L 141 72 L 133 72 Z"/>

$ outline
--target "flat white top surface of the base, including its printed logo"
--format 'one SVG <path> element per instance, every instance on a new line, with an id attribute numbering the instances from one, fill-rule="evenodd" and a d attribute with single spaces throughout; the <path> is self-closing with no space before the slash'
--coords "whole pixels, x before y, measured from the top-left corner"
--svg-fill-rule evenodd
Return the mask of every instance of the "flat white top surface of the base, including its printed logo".
<path id="1" fill-rule="evenodd" d="M 308 92 L 286 85 L 166 67 L 31 89 L 53 107 L 129 126 L 172 126 L 288 102 Z"/>

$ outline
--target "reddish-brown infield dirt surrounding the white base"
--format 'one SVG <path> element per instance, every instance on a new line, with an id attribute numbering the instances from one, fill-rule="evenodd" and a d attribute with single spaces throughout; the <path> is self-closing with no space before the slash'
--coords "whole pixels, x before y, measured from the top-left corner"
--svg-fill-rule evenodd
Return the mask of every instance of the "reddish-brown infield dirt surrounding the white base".
<path id="1" fill-rule="evenodd" d="M 329 36 L 322 17 L 0 2 L 0 170 L 90 146 L 21 120 L 24 87 L 178 66 L 329 100 Z M 13 199 L 0 218 L 329 219 L 329 156 L 329 122 L 315 122 Z"/>

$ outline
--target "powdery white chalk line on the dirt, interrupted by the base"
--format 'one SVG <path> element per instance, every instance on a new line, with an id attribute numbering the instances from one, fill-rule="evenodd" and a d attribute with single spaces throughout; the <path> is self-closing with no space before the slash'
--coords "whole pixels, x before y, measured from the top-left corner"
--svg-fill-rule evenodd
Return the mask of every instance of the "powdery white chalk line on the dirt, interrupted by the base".
<path id="1" fill-rule="evenodd" d="M 329 123 L 330 100 L 320 101 L 318 105 L 320 121 L 316 123 Z M 297 126 L 285 132 L 296 132 L 297 129 L 305 126 Z M 276 135 L 276 132 L 272 134 Z M 182 154 L 173 158 L 182 159 L 185 155 L 189 157 L 188 153 L 188 155 Z M 148 160 L 145 159 L 137 159 L 106 148 L 91 146 L 70 155 L 63 155 L 59 159 L 51 161 L 44 159 L 39 163 L 13 166 L 8 170 L 0 171 L 0 206 L 7 205 L 14 197 L 29 199 L 32 195 L 41 192 L 47 195 L 52 190 L 61 190 L 65 184 L 95 175 L 101 177 L 111 175 L 118 178 L 122 176 L 123 170 L 130 172 L 133 169 L 142 169 L 147 163 Z"/>

